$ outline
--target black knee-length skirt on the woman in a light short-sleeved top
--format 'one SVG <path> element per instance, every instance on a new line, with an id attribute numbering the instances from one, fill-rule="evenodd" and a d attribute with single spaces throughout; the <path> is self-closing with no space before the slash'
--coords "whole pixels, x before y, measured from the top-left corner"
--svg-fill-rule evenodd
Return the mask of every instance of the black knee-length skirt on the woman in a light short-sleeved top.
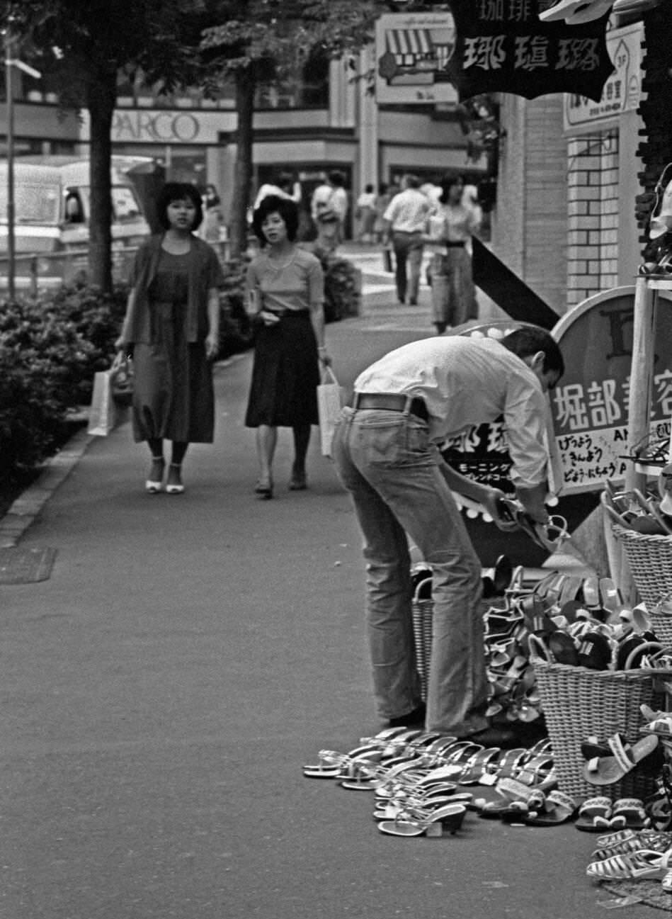
<path id="1" fill-rule="evenodd" d="M 308 310 L 287 313 L 274 325 L 261 324 L 245 425 L 317 425 L 318 384 L 318 343 Z"/>

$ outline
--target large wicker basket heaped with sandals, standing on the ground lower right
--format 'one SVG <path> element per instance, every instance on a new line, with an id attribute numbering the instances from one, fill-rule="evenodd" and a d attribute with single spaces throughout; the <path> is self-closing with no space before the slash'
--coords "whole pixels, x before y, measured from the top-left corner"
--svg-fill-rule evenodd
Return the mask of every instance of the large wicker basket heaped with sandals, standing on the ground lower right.
<path id="1" fill-rule="evenodd" d="M 606 741 L 621 733 L 630 743 L 641 738 L 643 722 L 639 707 L 644 703 L 658 709 L 663 697 L 654 691 L 650 670 L 588 670 L 567 664 L 533 660 L 537 686 L 553 744 L 558 787 L 577 799 L 606 794 L 618 798 L 645 798 L 655 790 L 655 781 L 635 767 L 613 785 L 591 785 L 583 777 L 581 742 L 591 735 Z"/>

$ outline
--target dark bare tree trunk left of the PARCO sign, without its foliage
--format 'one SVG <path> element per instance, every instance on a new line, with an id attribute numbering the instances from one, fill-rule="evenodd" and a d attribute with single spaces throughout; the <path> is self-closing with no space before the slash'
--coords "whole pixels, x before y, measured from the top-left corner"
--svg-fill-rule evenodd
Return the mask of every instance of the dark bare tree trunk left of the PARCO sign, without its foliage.
<path id="1" fill-rule="evenodd" d="M 112 116 L 117 102 L 117 73 L 100 73 L 89 85 L 87 108 L 91 119 L 89 215 L 89 280 L 112 289 Z"/>

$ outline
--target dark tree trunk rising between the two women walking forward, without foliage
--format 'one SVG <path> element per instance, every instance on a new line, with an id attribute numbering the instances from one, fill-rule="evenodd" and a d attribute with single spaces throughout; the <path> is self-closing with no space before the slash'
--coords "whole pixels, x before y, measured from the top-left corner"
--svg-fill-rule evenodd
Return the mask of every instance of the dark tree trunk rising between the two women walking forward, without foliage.
<path id="1" fill-rule="evenodd" d="M 247 249 L 247 209 L 252 185 L 252 118 L 254 116 L 254 78 L 251 68 L 236 72 L 236 111 L 238 132 L 233 199 L 231 201 L 230 252 L 240 258 Z"/>

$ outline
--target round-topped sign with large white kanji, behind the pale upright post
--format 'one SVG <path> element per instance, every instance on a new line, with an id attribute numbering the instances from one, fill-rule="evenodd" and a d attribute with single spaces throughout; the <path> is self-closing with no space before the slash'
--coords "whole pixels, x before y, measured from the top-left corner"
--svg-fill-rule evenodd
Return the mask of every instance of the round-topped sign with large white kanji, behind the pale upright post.
<path id="1" fill-rule="evenodd" d="M 660 291 L 672 301 L 672 294 Z M 551 393 L 561 494 L 601 491 L 628 468 L 628 391 L 633 357 L 634 288 L 603 291 L 579 303 L 552 335 L 565 357 Z M 672 310 L 656 311 L 652 438 L 670 437 Z"/>

